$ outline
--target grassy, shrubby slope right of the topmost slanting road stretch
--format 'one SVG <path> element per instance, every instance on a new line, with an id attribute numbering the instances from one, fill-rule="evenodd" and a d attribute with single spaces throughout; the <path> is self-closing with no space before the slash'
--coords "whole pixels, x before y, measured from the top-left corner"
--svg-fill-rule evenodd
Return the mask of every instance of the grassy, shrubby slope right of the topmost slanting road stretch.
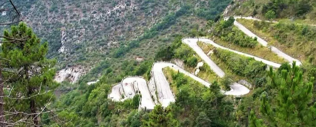
<path id="1" fill-rule="evenodd" d="M 282 50 L 293 56 L 303 56 L 306 61 L 315 65 L 316 27 L 295 23 L 269 24 L 262 21 L 253 21 L 254 30 L 262 31 L 265 36 L 270 36 L 271 42 L 286 47 Z M 273 33 L 273 34 L 270 34 Z"/>

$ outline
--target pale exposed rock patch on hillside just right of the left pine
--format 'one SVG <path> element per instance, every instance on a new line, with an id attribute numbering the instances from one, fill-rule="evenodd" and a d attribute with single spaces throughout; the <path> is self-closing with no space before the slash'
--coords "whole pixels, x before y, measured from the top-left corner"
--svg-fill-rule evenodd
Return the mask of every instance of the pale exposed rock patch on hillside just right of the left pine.
<path id="1" fill-rule="evenodd" d="M 69 67 L 67 69 L 58 71 L 55 76 L 55 81 L 61 83 L 64 80 L 68 80 L 70 83 L 75 83 L 82 75 L 87 72 L 88 70 L 82 66 Z"/>

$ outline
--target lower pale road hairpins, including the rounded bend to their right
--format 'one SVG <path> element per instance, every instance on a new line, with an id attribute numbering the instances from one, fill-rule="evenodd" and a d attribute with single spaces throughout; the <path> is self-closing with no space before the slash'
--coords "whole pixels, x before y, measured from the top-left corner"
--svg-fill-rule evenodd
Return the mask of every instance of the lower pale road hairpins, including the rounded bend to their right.
<path id="1" fill-rule="evenodd" d="M 193 78 L 194 80 L 200 82 L 201 84 L 209 87 L 211 84 L 201 78 L 198 78 L 197 76 L 185 71 L 184 69 L 180 68 L 179 66 L 167 63 L 167 62 L 155 62 L 152 68 L 153 76 L 152 78 L 155 79 L 157 94 L 158 94 L 158 100 L 161 103 L 163 107 L 167 107 L 170 102 L 174 102 L 175 98 L 173 96 L 173 93 L 170 89 L 169 82 L 167 81 L 165 75 L 162 72 L 162 68 L 170 67 L 176 71 L 179 71 L 181 73 L 184 73 L 185 75 Z M 151 95 L 149 94 L 149 89 L 146 84 L 145 79 L 139 78 L 139 77 L 128 77 L 123 79 L 122 81 L 123 87 L 124 87 L 124 93 L 126 94 L 128 91 L 133 91 L 132 85 L 134 85 L 135 89 L 139 90 L 142 94 L 142 101 L 141 101 L 141 107 L 146 109 L 153 109 L 155 103 L 151 99 Z M 125 86 L 125 83 L 128 85 Z M 109 97 L 114 101 L 124 101 L 127 98 L 132 98 L 135 95 L 135 92 L 131 95 L 127 95 L 124 99 L 121 99 L 121 94 L 119 93 L 119 89 L 121 88 L 121 85 L 115 85 L 112 87 L 112 92 L 109 94 Z M 249 89 L 246 88 L 243 85 L 234 83 L 231 85 L 232 90 L 230 91 L 223 91 L 221 90 L 225 95 L 245 95 L 249 93 Z M 127 90 L 129 89 L 129 90 Z M 154 95 L 155 96 L 155 95 Z"/>

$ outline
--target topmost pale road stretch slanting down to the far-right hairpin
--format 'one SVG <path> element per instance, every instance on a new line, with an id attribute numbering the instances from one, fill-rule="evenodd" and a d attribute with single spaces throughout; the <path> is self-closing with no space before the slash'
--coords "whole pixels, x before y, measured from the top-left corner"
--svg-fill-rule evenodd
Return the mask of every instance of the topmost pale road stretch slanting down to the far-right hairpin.
<path id="1" fill-rule="evenodd" d="M 241 17 L 235 16 L 234 18 L 237 19 L 237 18 L 241 18 Z M 242 17 L 242 18 L 250 19 L 250 20 L 258 20 L 258 19 L 252 18 L 252 17 Z M 227 19 L 228 19 L 228 18 L 225 18 L 224 20 L 227 20 Z M 257 41 L 258 41 L 261 45 L 263 45 L 263 46 L 265 46 L 265 47 L 268 46 L 268 42 L 266 42 L 264 39 L 258 37 L 258 36 L 255 35 L 254 33 L 252 33 L 250 30 L 248 30 L 245 26 L 241 25 L 241 24 L 240 24 L 239 22 L 237 22 L 236 20 L 234 21 L 234 25 L 235 25 L 236 27 L 238 27 L 238 28 L 239 28 L 242 32 L 244 32 L 246 35 L 248 35 L 248 36 L 250 36 L 250 37 L 253 37 L 253 38 L 254 38 L 254 37 L 257 37 Z M 297 60 L 297 59 L 295 59 L 295 58 L 293 58 L 293 57 L 291 57 L 291 56 L 289 56 L 289 55 L 283 53 L 281 50 L 277 49 L 277 48 L 274 47 L 274 46 L 271 46 L 271 51 L 274 52 L 274 53 L 276 53 L 278 56 L 284 58 L 285 60 L 289 61 L 290 63 L 292 63 L 293 61 L 296 61 L 296 65 L 298 65 L 298 66 L 301 66 L 301 65 L 302 65 L 301 61 L 299 61 L 299 60 Z"/>

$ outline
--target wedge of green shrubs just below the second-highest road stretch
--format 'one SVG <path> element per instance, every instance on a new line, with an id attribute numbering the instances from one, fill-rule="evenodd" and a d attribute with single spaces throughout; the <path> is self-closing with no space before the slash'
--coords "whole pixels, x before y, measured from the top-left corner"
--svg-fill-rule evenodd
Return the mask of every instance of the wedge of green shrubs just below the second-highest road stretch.
<path id="1" fill-rule="evenodd" d="M 238 55 L 224 49 L 215 49 L 214 54 L 224 61 L 234 73 L 255 78 L 265 72 L 266 64 L 261 61 L 256 61 L 253 58 Z"/>

